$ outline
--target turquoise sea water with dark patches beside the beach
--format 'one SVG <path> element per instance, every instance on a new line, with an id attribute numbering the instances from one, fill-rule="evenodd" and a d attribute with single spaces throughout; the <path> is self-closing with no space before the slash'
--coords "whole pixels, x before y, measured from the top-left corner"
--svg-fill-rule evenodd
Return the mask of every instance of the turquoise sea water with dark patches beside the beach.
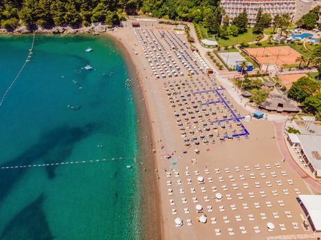
<path id="1" fill-rule="evenodd" d="M 1 96 L 31 43 L 31 35 L 0 37 Z M 0 167 L 135 156 L 127 78 L 108 38 L 37 35 L 0 106 Z M 135 239 L 138 189 L 133 158 L 0 169 L 0 239 Z"/>

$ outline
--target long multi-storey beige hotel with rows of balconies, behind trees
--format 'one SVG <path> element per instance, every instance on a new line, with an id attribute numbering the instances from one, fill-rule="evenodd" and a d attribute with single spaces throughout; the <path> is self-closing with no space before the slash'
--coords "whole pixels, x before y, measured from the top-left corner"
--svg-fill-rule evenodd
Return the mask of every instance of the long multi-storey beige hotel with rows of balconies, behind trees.
<path id="1" fill-rule="evenodd" d="M 230 18 L 230 22 L 245 9 L 249 23 L 253 25 L 259 8 L 263 13 L 271 14 L 272 18 L 276 14 L 288 13 L 292 19 L 296 13 L 296 0 L 222 0 L 221 7 Z"/>

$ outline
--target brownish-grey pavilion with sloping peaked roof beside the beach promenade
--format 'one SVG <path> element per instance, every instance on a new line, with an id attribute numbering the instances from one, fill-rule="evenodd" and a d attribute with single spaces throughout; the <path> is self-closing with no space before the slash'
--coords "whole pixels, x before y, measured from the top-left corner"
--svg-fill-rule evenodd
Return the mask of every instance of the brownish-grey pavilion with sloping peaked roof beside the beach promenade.
<path id="1" fill-rule="evenodd" d="M 274 112 L 299 112 L 300 108 L 296 106 L 296 102 L 279 94 L 271 94 L 262 103 L 259 108 Z"/>

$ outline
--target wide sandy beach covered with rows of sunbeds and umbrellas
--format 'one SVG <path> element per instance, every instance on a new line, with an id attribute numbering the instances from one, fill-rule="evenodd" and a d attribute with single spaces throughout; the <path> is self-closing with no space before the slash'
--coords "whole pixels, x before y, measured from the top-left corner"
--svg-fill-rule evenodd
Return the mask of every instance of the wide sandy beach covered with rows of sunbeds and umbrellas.
<path id="1" fill-rule="evenodd" d="M 186 35 L 157 21 L 108 34 L 137 75 L 145 239 L 316 239 L 296 200 L 313 189 L 283 158 L 272 123 L 247 117 Z"/>

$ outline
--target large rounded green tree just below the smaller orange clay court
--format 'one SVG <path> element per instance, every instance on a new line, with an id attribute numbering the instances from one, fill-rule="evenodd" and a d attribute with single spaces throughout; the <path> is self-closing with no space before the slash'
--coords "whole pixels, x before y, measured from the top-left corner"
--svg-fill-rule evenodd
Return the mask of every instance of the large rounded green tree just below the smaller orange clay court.
<path id="1" fill-rule="evenodd" d="M 311 97 L 319 93 L 321 83 L 313 80 L 311 77 L 301 77 L 297 82 L 292 84 L 287 95 L 296 101 L 305 101 L 307 97 Z"/>

